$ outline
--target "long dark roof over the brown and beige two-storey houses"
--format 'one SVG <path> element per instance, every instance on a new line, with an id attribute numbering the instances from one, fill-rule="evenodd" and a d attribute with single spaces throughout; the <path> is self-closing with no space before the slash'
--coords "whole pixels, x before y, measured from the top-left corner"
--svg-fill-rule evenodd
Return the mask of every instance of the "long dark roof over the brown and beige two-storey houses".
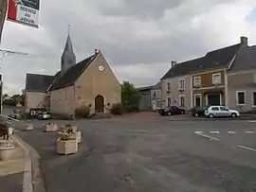
<path id="1" fill-rule="evenodd" d="M 228 67 L 229 61 L 233 59 L 240 48 L 241 44 L 234 44 L 210 51 L 202 58 L 175 64 L 162 79 L 170 79 L 177 76 L 188 75 L 190 73 Z"/>

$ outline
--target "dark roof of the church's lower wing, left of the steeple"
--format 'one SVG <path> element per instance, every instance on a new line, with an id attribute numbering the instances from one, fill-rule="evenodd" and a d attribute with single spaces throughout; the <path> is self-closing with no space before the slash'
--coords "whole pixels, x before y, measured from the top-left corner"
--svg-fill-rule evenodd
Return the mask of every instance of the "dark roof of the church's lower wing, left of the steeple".
<path id="1" fill-rule="evenodd" d="M 46 92 L 46 89 L 54 79 L 54 76 L 27 74 L 25 90 L 27 92 Z"/>

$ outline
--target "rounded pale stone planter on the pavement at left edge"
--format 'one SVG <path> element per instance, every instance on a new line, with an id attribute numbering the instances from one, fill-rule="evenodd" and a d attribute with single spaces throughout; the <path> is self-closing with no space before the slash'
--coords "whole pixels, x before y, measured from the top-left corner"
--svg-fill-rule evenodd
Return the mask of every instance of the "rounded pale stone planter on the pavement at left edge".
<path id="1" fill-rule="evenodd" d="M 0 161 L 8 161 L 13 157 L 15 147 L 12 142 L 1 142 L 0 144 Z"/>

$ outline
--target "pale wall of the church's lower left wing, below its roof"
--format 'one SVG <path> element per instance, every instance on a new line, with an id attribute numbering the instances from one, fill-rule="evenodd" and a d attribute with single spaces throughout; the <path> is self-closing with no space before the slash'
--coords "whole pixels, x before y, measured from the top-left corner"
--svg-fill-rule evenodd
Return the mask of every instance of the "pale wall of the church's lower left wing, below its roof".
<path id="1" fill-rule="evenodd" d="M 46 108 L 46 93 L 25 92 L 25 113 L 32 108 Z"/>

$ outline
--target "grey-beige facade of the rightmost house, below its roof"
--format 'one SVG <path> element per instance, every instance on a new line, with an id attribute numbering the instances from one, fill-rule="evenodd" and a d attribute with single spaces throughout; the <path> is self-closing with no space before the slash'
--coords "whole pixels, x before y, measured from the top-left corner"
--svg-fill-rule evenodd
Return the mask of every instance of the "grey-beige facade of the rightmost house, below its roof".
<path id="1" fill-rule="evenodd" d="M 240 112 L 256 110 L 256 107 L 253 106 L 253 92 L 256 91 L 255 74 L 255 70 L 228 74 L 229 108 L 237 109 Z M 246 91 L 246 105 L 237 105 L 237 91 Z"/>

